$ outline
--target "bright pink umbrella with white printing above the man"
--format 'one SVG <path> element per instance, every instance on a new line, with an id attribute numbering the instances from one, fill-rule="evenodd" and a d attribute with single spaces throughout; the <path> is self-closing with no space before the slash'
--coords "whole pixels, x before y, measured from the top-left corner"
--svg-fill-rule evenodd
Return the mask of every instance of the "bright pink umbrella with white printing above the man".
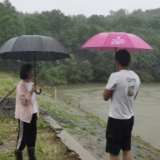
<path id="1" fill-rule="evenodd" d="M 153 48 L 134 34 L 99 33 L 88 40 L 82 48 L 102 52 L 116 52 L 125 49 L 130 53 L 147 52 Z"/>

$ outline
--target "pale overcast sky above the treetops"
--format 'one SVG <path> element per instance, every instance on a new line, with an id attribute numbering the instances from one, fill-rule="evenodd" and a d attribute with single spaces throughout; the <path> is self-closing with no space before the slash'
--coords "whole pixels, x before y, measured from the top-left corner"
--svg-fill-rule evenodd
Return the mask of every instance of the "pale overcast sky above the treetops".
<path id="1" fill-rule="evenodd" d="M 0 0 L 3 2 L 3 0 Z M 41 12 L 59 9 L 66 15 L 107 15 L 110 10 L 125 8 L 129 12 L 160 8 L 160 0 L 10 0 L 22 12 Z"/>

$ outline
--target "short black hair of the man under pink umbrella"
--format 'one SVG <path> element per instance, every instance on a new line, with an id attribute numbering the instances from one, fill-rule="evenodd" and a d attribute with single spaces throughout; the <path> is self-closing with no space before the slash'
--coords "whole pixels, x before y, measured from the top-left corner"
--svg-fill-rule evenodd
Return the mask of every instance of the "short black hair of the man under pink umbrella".
<path id="1" fill-rule="evenodd" d="M 116 52 L 116 60 L 122 67 L 128 67 L 131 61 L 131 54 L 127 50 Z"/>

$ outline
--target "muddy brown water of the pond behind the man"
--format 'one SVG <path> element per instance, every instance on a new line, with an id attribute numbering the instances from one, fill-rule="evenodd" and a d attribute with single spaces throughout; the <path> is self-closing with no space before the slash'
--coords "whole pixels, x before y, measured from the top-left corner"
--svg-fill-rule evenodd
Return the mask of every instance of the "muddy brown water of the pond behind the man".
<path id="1" fill-rule="evenodd" d="M 81 100 L 81 108 L 107 120 L 109 102 L 102 94 L 105 84 L 71 85 L 58 88 L 64 94 Z M 134 105 L 133 134 L 160 148 L 160 84 L 142 85 Z"/>

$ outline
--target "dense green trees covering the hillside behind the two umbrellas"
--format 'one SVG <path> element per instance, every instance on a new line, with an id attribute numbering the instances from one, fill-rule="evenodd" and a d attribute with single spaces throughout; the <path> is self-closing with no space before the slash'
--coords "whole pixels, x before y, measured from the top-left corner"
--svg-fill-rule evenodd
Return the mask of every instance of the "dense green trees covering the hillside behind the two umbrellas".
<path id="1" fill-rule="evenodd" d="M 37 64 L 39 79 L 50 84 L 106 82 L 114 71 L 114 53 L 82 50 L 81 46 L 100 32 L 127 32 L 140 36 L 154 50 L 133 53 L 131 69 L 143 82 L 160 82 L 160 9 L 110 11 L 108 16 L 67 16 L 60 10 L 21 13 L 5 0 L 0 3 L 0 45 L 26 35 L 51 36 L 59 40 L 71 59 Z M 21 62 L 22 63 L 22 62 Z M 20 62 L 0 59 L 0 70 L 17 72 Z"/>

